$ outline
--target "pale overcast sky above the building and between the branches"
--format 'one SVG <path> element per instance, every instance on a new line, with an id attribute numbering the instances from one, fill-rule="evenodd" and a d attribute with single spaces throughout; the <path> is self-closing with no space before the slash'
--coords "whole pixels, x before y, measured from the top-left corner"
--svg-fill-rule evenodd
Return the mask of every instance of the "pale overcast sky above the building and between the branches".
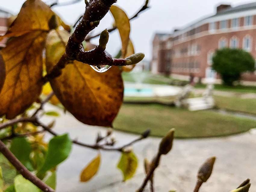
<path id="1" fill-rule="evenodd" d="M 44 0 L 50 3 L 53 0 Z M 70 0 L 59 0 L 66 2 Z M 144 4 L 145 0 L 118 0 L 117 6 L 123 8 L 128 16 L 132 16 Z M 1 0 L 0 8 L 17 14 L 24 0 Z M 183 28 L 195 20 L 215 14 L 216 6 L 231 4 L 232 6 L 250 3 L 247 0 L 149 0 L 150 9 L 131 21 L 131 39 L 136 52 L 144 52 L 146 59 L 151 59 L 152 39 L 156 32 L 171 33 L 175 28 Z M 57 12 L 68 24 L 73 24 L 83 14 L 84 1 L 65 7 L 55 7 Z M 94 33 L 112 26 L 111 14 L 107 14 Z M 92 42 L 97 43 L 97 39 Z M 121 44 L 117 32 L 111 33 L 107 50 L 115 55 Z"/>

